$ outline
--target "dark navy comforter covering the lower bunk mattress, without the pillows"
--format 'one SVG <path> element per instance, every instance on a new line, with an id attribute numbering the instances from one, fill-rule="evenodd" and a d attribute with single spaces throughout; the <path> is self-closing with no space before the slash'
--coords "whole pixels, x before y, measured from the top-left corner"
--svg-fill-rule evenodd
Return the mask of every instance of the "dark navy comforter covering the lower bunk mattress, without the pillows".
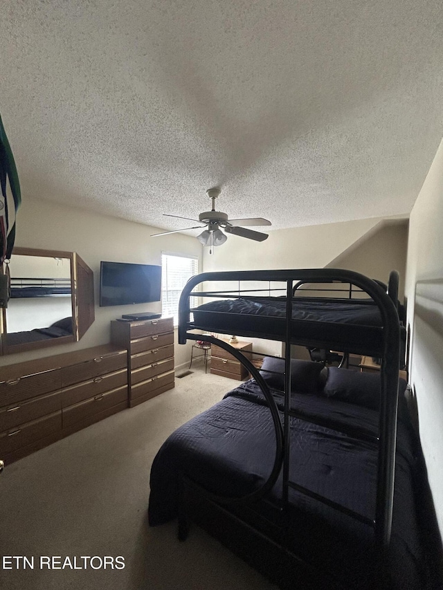
<path id="1" fill-rule="evenodd" d="M 282 409 L 282 392 L 271 389 L 271 393 Z M 334 428 L 291 416 L 290 479 L 373 519 L 377 445 L 335 429 L 342 423 L 376 435 L 377 410 L 297 391 L 291 395 L 291 407 L 314 421 L 332 419 Z M 415 436 L 400 396 L 392 577 L 396 580 L 393 587 L 418 590 L 422 588 L 422 550 L 415 519 L 415 453 Z M 152 464 L 150 524 L 156 526 L 177 516 L 183 478 L 209 492 L 239 497 L 264 483 L 274 456 L 271 414 L 260 387 L 249 380 L 165 441 Z M 278 522 L 281 514 L 271 506 L 278 505 L 281 488 L 280 477 L 267 497 L 252 508 L 240 504 L 229 509 L 245 522 L 251 519 L 253 526 L 257 526 L 255 515 Z M 314 568 L 329 571 L 332 578 L 339 575 L 349 587 L 365 587 L 365 575 L 370 575 L 373 566 L 372 527 L 294 489 L 289 490 L 289 506 L 285 526 L 293 551 Z"/>

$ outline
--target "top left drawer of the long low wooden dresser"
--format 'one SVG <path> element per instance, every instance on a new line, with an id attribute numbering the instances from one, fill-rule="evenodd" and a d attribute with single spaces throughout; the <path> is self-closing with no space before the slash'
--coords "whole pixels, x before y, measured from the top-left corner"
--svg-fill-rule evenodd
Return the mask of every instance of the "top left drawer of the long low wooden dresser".
<path id="1" fill-rule="evenodd" d="M 60 369 L 0 381 L 0 406 L 60 389 Z"/>

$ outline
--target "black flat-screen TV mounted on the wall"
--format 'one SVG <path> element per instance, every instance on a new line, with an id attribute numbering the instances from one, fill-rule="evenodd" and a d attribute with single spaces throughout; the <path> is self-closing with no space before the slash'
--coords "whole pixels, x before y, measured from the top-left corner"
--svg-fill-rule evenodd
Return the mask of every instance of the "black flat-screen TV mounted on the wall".
<path id="1" fill-rule="evenodd" d="M 100 306 L 161 300 L 161 266 L 100 262 Z"/>

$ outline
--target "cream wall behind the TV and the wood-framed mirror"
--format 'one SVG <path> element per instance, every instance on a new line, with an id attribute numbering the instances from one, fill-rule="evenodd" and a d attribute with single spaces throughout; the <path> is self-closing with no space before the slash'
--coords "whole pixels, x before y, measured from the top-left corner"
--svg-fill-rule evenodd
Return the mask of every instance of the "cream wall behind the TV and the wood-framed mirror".
<path id="1" fill-rule="evenodd" d="M 150 237 L 150 234 L 158 231 L 158 228 L 151 228 L 141 223 L 66 207 L 51 201 L 30 199 L 29 196 L 24 195 L 17 214 L 15 246 L 78 252 L 94 273 L 96 321 L 80 342 L 6 355 L 0 357 L 0 366 L 106 344 L 110 339 L 111 320 L 121 317 L 123 313 L 161 311 L 160 303 L 98 306 L 101 260 L 161 264 L 162 250 L 170 254 L 201 257 L 201 244 L 194 237 L 182 234 Z M 176 342 L 175 353 L 176 367 L 189 362 L 188 344 L 179 345 Z"/>

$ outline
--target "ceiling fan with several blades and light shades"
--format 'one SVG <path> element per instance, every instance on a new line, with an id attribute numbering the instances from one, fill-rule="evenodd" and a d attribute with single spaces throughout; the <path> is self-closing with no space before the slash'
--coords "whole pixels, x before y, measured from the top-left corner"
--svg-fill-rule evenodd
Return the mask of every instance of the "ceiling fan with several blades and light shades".
<path id="1" fill-rule="evenodd" d="M 213 201 L 213 208 L 210 211 L 205 211 L 199 214 L 199 219 L 192 219 L 190 217 L 181 217 L 180 215 L 169 215 L 164 213 L 168 217 L 178 217 L 179 219 L 189 219 L 189 221 L 197 221 L 202 225 L 194 225 L 192 228 L 183 228 L 181 230 L 173 230 L 171 232 L 161 232 L 160 234 L 152 234 L 152 237 L 165 236 L 166 234 L 175 234 L 177 232 L 183 232 L 186 230 L 197 230 L 203 228 L 206 225 L 206 229 L 197 236 L 197 239 L 204 246 L 221 246 L 228 239 L 226 234 L 233 234 L 242 238 L 248 238 L 255 241 L 264 241 L 268 234 L 262 232 L 255 232 L 254 230 L 248 230 L 242 228 L 242 225 L 271 225 L 271 221 L 263 219 L 262 217 L 249 217 L 246 219 L 228 219 L 226 213 L 215 210 L 215 199 L 220 194 L 218 188 L 210 188 L 206 191 L 209 198 Z M 220 228 L 223 228 L 224 232 Z"/>

